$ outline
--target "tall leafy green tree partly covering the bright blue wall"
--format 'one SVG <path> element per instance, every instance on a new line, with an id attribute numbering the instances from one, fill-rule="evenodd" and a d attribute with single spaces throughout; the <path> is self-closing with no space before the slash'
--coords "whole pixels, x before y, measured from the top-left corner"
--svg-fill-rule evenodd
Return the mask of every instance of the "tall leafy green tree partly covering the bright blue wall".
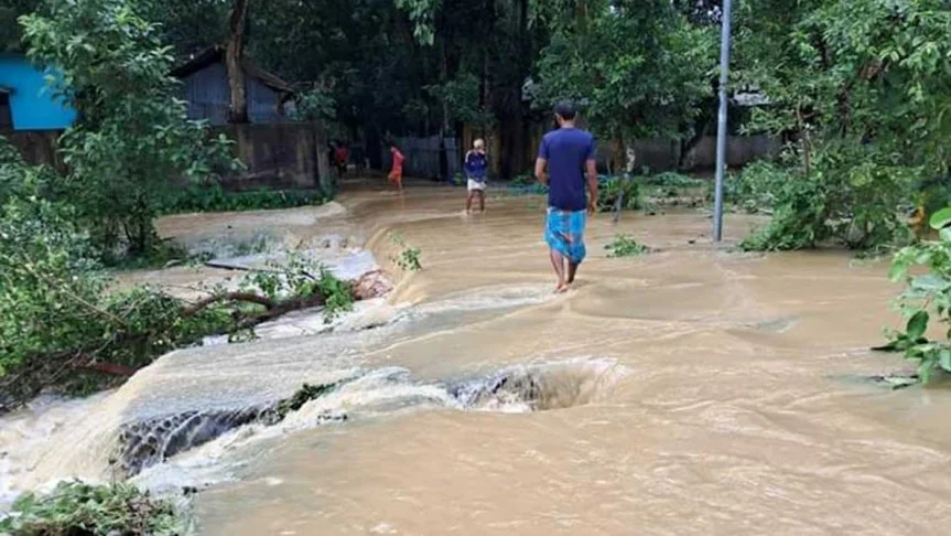
<path id="1" fill-rule="evenodd" d="M 50 0 L 21 18 L 31 60 L 56 65 L 56 94 L 79 112 L 60 140 L 69 172 L 58 196 L 75 205 L 91 238 L 112 257 L 158 242 L 156 202 L 176 180 L 213 176 L 234 162 L 228 140 L 190 121 L 169 76 L 159 31 L 127 0 Z"/>

